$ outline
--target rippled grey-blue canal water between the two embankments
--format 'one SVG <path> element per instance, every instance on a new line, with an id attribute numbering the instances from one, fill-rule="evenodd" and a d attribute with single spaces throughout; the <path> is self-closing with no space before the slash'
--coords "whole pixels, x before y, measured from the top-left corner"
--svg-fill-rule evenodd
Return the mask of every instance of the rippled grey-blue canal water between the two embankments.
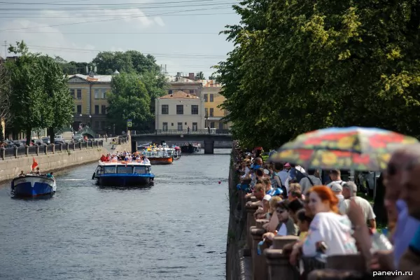
<path id="1" fill-rule="evenodd" d="M 151 188 L 98 188 L 96 164 L 57 172 L 50 199 L 3 184 L 0 279 L 225 279 L 229 152 L 155 165 Z"/>

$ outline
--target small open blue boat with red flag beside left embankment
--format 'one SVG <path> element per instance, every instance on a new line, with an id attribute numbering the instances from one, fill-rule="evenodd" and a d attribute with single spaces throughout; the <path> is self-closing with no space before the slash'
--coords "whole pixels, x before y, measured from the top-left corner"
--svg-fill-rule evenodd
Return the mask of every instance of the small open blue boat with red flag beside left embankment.
<path id="1" fill-rule="evenodd" d="M 27 174 L 13 179 L 11 188 L 16 197 L 37 197 L 54 194 L 57 185 L 53 178 Z"/>

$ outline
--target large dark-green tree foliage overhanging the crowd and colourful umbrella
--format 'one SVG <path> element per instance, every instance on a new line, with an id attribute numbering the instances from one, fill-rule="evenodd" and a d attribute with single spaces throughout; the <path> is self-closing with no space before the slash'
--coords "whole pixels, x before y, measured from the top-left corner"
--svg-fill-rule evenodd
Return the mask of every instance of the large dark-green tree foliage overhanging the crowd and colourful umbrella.
<path id="1" fill-rule="evenodd" d="M 330 126 L 420 137 L 419 1 L 246 0 L 217 66 L 232 131 L 276 147 Z M 246 118 L 244 118 L 246 116 Z"/>

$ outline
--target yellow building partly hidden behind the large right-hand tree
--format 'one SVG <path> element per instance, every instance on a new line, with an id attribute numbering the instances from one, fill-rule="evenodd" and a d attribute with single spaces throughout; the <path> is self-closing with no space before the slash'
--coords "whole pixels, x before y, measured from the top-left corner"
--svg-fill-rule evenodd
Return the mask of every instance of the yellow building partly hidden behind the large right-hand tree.
<path id="1" fill-rule="evenodd" d="M 224 123 L 221 118 L 227 115 L 226 111 L 219 108 L 225 101 L 225 97 L 219 92 L 222 85 L 215 80 L 198 80 L 202 83 L 201 97 L 204 98 L 204 115 L 206 127 L 226 130 L 229 123 Z"/>

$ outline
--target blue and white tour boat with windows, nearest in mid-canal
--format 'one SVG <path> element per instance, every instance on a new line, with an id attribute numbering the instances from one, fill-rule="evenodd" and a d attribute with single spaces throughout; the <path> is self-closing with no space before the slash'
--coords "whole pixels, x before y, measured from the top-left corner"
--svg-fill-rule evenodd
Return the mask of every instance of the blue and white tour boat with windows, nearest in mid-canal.
<path id="1" fill-rule="evenodd" d="M 155 179 L 151 173 L 151 164 L 141 160 L 132 162 L 102 162 L 92 179 L 97 179 L 99 186 L 144 186 Z"/>

